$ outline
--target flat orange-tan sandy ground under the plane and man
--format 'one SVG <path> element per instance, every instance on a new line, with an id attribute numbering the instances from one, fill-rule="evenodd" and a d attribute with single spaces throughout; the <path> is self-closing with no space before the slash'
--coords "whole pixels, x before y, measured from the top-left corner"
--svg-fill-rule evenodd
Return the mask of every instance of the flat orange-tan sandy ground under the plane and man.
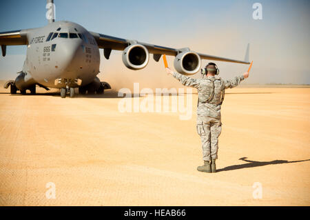
<path id="1" fill-rule="evenodd" d="M 182 121 L 121 113 L 112 92 L 0 92 L 1 206 L 310 205 L 310 88 L 227 90 L 216 174 L 196 171 L 196 94 Z M 56 199 L 45 197 L 50 182 Z"/>

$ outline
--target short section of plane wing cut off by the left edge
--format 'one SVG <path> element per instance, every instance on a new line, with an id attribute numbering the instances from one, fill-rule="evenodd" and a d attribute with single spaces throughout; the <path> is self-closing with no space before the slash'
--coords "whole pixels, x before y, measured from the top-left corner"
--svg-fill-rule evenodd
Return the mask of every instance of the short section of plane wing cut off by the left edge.
<path id="1" fill-rule="evenodd" d="M 0 32 L 0 45 L 3 57 L 6 56 L 6 46 L 27 44 L 27 35 L 23 30 Z"/>

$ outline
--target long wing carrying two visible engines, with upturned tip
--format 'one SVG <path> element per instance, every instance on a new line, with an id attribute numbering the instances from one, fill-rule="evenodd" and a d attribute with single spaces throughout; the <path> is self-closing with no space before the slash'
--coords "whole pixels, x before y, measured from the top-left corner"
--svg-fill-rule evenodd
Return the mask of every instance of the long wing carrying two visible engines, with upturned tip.
<path id="1" fill-rule="evenodd" d="M 128 39 L 122 39 L 118 37 L 112 37 L 109 35 L 105 34 L 99 34 L 95 32 L 90 32 L 90 34 L 93 35 L 94 39 L 96 39 L 96 42 L 99 46 L 99 48 L 104 49 L 107 51 L 108 56 L 105 56 L 107 59 L 110 56 L 110 51 L 111 50 L 125 50 L 127 46 L 130 46 L 131 44 L 138 43 L 142 44 L 147 48 L 149 53 L 154 54 L 154 59 L 158 61 L 161 57 L 162 54 L 167 54 L 170 56 L 176 56 L 178 55 L 179 52 L 183 51 L 189 51 L 189 48 L 167 48 L 163 46 L 158 46 L 150 43 L 143 43 L 143 42 L 138 42 L 135 40 L 128 40 Z M 241 60 L 236 60 L 236 59 L 229 59 L 225 57 L 216 57 L 212 56 L 209 54 L 203 54 L 203 53 L 198 53 L 201 59 L 209 59 L 209 60 L 214 60 L 214 61 L 226 61 L 226 62 L 232 62 L 232 63 L 244 63 L 244 64 L 249 64 L 248 60 L 248 52 L 249 52 L 249 45 L 247 48 L 247 54 L 246 58 L 244 61 Z M 106 55 L 106 52 L 105 52 Z"/>

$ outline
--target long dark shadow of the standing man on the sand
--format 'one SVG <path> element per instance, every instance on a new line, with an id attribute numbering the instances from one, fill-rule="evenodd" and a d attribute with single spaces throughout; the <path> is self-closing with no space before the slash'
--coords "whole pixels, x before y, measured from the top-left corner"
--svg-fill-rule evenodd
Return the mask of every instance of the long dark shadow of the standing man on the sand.
<path id="1" fill-rule="evenodd" d="M 310 161 L 310 159 L 302 160 L 302 161 L 285 161 L 285 160 L 275 160 L 275 161 L 250 161 L 247 157 L 240 158 L 241 161 L 245 161 L 247 163 L 238 164 L 233 166 L 227 166 L 226 168 L 218 169 L 216 172 L 229 171 L 229 170 L 239 170 L 243 168 L 256 168 L 258 166 L 267 166 L 273 164 L 282 164 L 282 163 L 298 163 L 304 161 Z"/>

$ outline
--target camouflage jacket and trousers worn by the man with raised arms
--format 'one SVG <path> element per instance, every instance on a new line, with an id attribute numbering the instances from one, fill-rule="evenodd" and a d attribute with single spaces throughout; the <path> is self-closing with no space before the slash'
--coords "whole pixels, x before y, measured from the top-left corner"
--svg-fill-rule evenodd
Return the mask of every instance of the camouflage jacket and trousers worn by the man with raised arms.
<path id="1" fill-rule="evenodd" d="M 218 76 L 194 79 L 178 72 L 174 72 L 173 76 L 184 86 L 198 89 L 196 128 L 203 145 L 203 160 L 218 159 L 218 137 L 222 130 L 220 106 L 225 89 L 238 86 L 245 78 L 240 75 L 231 80 L 224 80 Z"/>

